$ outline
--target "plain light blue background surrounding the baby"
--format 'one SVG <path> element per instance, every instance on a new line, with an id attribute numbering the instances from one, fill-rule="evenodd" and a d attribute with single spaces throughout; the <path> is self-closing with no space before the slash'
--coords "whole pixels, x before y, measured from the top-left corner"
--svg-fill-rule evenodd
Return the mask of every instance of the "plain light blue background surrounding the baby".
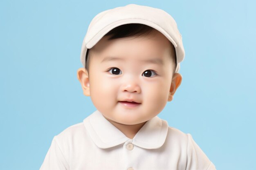
<path id="1" fill-rule="evenodd" d="M 190 133 L 217 170 L 256 169 L 253 0 L 0 2 L 0 169 L 37 170 L 54 135 L 90 115 L 76 71 L 92 18 L 135 3 L 176 20 L 183 81 L 159 117 Z"/>

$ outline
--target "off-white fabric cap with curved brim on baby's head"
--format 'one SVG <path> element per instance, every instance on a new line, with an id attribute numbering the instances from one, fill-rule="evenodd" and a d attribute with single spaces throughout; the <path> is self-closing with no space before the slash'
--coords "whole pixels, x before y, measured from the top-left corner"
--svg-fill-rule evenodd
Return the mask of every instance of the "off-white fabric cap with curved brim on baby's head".
<path id="1" fill-rule="evenodd" d="M 185 51 L 182 44 L 182 35 L 173 17 L 162 9 L 128 4 L 98 13 L 91 21 L 81 49 L 81 62 L 85 66 L 87 49 L 92 48 L 110 30 L 124 24 L 145 24 L 161 32 L 175 47 L 177 66 L 175 73 L 180 70 L 180 62 L 184 59 Z"/>

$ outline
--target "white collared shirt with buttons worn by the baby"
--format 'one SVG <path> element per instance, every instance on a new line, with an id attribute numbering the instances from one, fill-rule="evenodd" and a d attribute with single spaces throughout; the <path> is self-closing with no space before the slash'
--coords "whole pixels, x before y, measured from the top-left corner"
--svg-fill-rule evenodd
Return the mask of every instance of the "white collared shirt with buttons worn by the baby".
<path id="1" fill-rule="evenodd" d="M 155 116 L 133 139 L 96 110 L 54 136 L 40 170 L 216 170 L 190 134 Z"/>

